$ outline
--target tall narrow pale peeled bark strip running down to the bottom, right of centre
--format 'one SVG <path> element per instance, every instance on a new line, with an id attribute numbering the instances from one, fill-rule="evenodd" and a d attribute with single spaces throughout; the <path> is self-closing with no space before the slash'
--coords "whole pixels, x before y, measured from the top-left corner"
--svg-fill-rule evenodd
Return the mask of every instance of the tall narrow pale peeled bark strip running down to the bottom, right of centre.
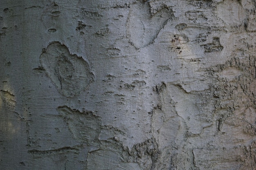
<path id="1" fill-rule="evenodd" d="M 189 130 L 187 126 L 189 122 L 186 122 L 186 120 L 181 117 L 183 116 L 182 114 L 186 112 L 186 109 L 179 109 L 177 103 L 182 101 L 176 101 L 176 97 L 186 98 L 188 95 L 179 87 L 175 89 L 175 86 L 172 86 L 169 82 L 162 82 L 162 84 L 155 86 L 153 90 L 159 95 L 160 99 L 157 107 L 153 109 L 151 119 L 151 132 L 156 139 L 159 154 L 155 161 L 152 159 L 152 167 L 150 170 L 172 169 L 171 167 L 173 167 L 173 169 L 175 169 L 174 167 L 186 169 L 179 165 L 184 163 L 184 161 L 181 160 L 181 149 L 186 141 L 185 134 Z M 179 90 L 182 92 L 182 96 L 180 97 L 175 94 L 175 91 Z M 172 98 L 174 98 L 175 101 Z M 191 107 L 188 107 L 188 109 L 190 108 Z M 192 126 L 194 125 L 193 122 Z M 176 163 L 175 161 L 183 162 Z"/>

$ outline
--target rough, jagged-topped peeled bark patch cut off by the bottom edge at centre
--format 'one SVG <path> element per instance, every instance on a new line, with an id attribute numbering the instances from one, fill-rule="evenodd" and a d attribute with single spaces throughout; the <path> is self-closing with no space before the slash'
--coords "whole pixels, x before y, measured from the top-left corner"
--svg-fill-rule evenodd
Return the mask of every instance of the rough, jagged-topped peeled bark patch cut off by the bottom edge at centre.
<path id="1" fill-rule="evenodd" d="M 109 135 L 108 132 L 106 134 Z M 88 170 L 156 170 L 159 150 L 155 139 L 148 139 L 128 149 L 116 137 L 103 138 L 100 149 L 88 153 Z"/>

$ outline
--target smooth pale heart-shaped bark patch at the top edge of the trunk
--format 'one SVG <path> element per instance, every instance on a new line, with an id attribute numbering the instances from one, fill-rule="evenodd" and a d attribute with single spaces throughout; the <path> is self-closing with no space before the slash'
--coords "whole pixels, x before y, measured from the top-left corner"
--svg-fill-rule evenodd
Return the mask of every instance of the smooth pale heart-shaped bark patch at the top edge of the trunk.
<path id="1" fill-rule="evenodd" d="M 154 42 L 159 31 L 173 17 L 173 11 L 168 7 L 163 7 L 151 15 L 148 2 L 138 2 L 130 8 L 126 21 L 127 37 L 137 49 L 148 46 Z"/>

